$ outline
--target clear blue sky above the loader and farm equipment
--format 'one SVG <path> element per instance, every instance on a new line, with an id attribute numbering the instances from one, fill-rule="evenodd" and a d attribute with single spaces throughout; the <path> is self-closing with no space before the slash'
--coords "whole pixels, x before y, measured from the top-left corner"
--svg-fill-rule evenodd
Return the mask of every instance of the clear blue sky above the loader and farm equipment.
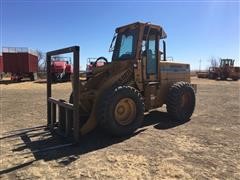
<path id="1" fill-rule="evenodd" d="M 167 56 L 192 69 L 209 59 L 240 57 L 239 1 L 14 1 L 1 0 L 1 46 L 44 52 L 81 47 L 88 57 L 105 56 L 116 27 L 143 21 L 167 32 Z"/>

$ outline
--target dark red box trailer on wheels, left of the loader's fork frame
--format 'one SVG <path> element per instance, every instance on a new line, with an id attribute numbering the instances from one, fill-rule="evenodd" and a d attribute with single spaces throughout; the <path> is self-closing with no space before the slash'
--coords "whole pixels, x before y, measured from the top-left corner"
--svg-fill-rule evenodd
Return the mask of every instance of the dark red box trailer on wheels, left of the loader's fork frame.
<path id="1" fill-rule="evenodd" d="M 37 79 L 38 57 L 36 52 L 28 48 L 4 47 L 3 72 L 11 73 L 11 80 L 20 81 L 29 77 Z"/>

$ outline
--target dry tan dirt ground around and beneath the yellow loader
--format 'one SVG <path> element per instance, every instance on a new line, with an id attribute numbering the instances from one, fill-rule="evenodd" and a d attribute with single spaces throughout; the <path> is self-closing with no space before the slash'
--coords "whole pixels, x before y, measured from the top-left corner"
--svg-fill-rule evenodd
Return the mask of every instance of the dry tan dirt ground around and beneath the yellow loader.
<path id="1" fill-rule="evenodd" d="M 134 135 L 96 129 L 79 146 L 38 151 L 69 140 L 46 131 L 46 84 L 0 83 L 1 179 L 240 179 L 240 81 L 192 78 L 198 84 L 190 121 L 165 107 L 145 115 Z M 54 85 L 68 99 L 70 83 Z"/>

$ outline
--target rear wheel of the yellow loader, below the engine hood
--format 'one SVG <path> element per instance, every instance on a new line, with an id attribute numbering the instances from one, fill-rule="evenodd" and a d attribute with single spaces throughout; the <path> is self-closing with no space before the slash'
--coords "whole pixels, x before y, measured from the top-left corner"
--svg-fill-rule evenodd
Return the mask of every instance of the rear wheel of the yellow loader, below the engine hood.
<path id="1" fill-rule="evenodd" d="M 189 120 L 195 108 L 195 92 L 187 82 L 177 82 L 169 90 L 167 111 L 177 121 Z"/>

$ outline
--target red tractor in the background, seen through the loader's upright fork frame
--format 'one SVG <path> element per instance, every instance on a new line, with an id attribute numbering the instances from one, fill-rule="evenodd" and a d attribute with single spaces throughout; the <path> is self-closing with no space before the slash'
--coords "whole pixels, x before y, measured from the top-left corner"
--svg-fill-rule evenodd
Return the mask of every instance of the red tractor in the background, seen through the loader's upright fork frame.
<path id="1" fill-rule="evenodd" d="M 67 57 L 53 57 L 51 63 L 51 74 L 53 81 L 69 81 L 73 73 L 73 66 L 69 64 L 71 61 Z"/>

